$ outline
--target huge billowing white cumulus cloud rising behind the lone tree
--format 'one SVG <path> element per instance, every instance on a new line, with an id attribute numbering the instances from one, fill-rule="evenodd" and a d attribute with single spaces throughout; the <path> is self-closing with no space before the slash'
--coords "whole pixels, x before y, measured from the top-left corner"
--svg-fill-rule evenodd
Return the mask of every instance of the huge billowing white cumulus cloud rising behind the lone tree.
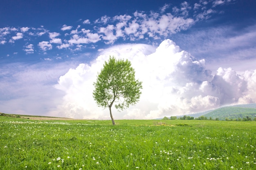
<path id="1" fill-rule="evenodd" d="M 197 60 L 173 41 L 164 40 L 157 48 L 145 44 L 113 46 L 101 51 L 90 64 L 70 69 L 56 84 L 65 96 L 52 114 L 109 119 L 108 110 L 97 107 L 92 97 L 92 84 L 109 55 L 130 60 L 136 77 L 143 82 L 140 102 L 121 113 L 115 110 L 115 119 L 154 119 L 256 101 L 256 70 L 238 75 L 232 68 L 220 67 L 212 75 L 205 60 Z"/>

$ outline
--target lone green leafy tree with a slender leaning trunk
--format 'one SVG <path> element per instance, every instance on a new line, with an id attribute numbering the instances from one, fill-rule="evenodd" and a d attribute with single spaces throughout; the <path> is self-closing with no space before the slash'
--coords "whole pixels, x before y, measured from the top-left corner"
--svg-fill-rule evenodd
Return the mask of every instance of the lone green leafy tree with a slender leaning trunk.
<path id="1" fill-rule="evenodd" d="M 98 73 L 97 81 L 93 83 L 93 97 L 98 106 L 109 108 L 112 124 L 115 125 L 112 105 L 115 103 L 115 108 L 121 111 L 136 104 L 141 95 L 141 84 L 142 82 L 135 79 L 135 71 L 130 61 L 116 60 L 114 56 L 110 56 Z"/>

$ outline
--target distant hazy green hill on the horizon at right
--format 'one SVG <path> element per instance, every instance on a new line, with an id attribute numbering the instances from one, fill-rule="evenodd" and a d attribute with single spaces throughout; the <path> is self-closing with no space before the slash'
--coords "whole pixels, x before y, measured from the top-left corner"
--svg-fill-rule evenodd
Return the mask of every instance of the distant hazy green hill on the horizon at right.
<path id="1" fill-rule="evenodd" d="M 234 120 L 234 119 L 243 119 L 246 117 L 250 117 L 254 119 L 256 117 L 256 108 L 245 108 L 245 107 L 224 107 L 213 110 L 204 115 L 208 119 L 211 117 L 212 119 L 218 118 L 219 120 Z"/>

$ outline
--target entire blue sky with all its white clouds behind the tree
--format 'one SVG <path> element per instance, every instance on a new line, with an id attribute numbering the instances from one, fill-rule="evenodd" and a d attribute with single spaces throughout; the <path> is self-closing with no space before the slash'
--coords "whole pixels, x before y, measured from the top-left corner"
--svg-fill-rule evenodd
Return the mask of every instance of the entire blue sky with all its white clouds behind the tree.
<path id="1" fill-rule="evenodd" d="M 109 56 L 140 101 L 114 119 L 256 103 L 254 0 L 18 0 L 0 6 L 0 112 L 110 119 L 93 97 Z"/>

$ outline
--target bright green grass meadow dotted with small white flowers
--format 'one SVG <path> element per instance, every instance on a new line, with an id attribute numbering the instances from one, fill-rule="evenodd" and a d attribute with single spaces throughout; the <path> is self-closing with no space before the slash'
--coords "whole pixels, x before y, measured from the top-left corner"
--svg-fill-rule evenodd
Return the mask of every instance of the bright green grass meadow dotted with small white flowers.
<path id="1" fill-rule="evenodd" d="M 116 123 L 0 117 L 0 169 L 256 169 L 255 121 Z"/>

